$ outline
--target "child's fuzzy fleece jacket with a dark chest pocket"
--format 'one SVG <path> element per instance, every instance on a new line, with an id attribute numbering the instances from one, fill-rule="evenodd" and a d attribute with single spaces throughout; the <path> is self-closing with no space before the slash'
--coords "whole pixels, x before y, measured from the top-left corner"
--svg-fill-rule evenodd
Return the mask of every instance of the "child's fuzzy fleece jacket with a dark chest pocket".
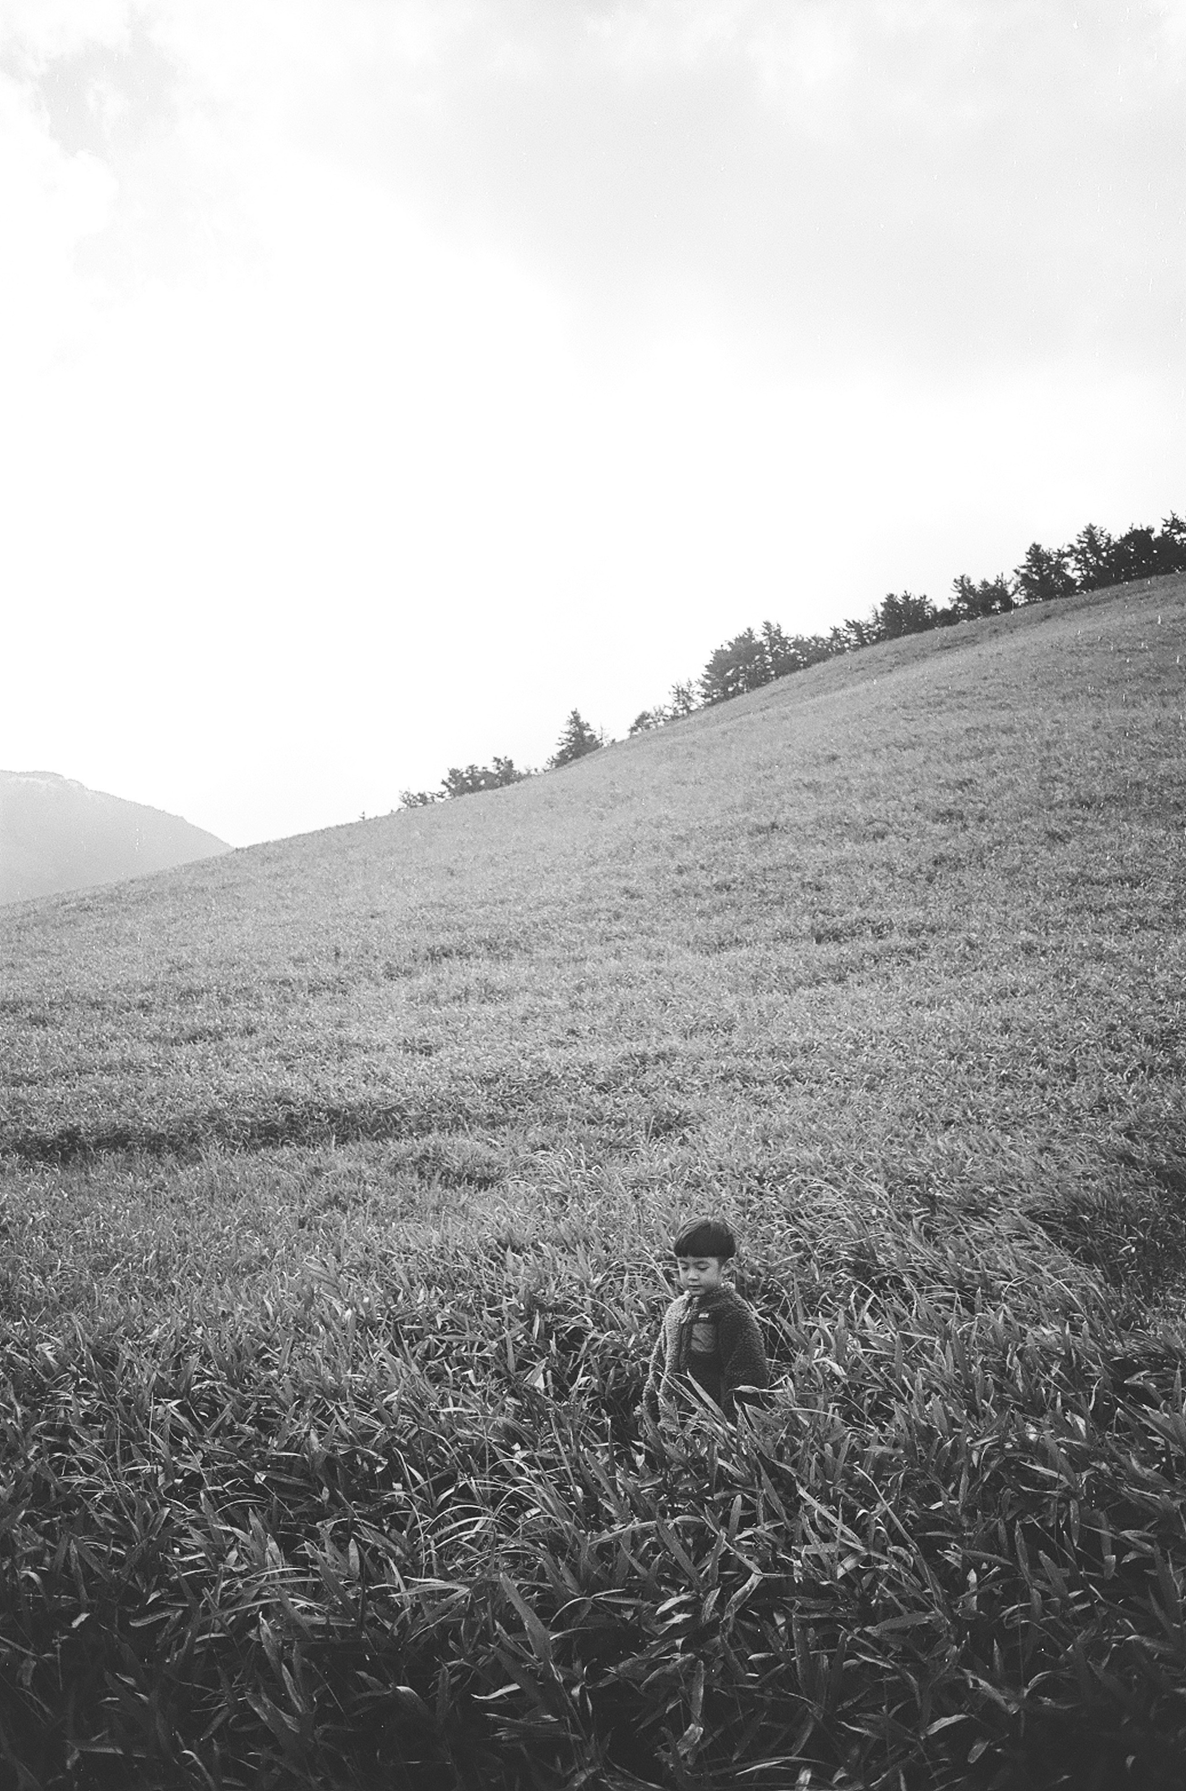
<path id="1" fill-rule="evenodd" d="M 762 1333 L 739 1293 L 712 1288 L 682 1293 L 664 1313 L 664 1325 L 651 1352 L 642 1406 L 658 1420 L 673 1399 L 680 1375 L 690 1375 L 726 1418 L 735 1413 L 739 1386 L 769 1386 Z"/>

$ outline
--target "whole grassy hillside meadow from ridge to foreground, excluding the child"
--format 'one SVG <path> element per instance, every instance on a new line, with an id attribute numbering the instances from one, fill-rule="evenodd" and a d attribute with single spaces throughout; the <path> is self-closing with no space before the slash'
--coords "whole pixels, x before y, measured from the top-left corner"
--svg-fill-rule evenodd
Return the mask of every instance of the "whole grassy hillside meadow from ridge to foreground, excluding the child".
<path id="1" fill-rule="evenodd" d="M 1186 1784 L 1184 623 L 0 910 L 0 1782 Z"/>

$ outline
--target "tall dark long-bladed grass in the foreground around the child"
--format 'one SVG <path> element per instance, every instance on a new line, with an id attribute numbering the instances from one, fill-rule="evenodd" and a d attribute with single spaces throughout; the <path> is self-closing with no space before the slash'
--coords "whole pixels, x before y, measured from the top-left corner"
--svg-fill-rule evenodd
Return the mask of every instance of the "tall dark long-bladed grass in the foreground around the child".
<path id="1" fill-rule="evenodd" d="M 1016 1298 L 918 1221 L 758 1273 L 780 1388 L 676 1444 L 648 1302 L 499 1248 L 386 1309 L 13 1329 L 7 1782 L 1184 1784 L 1184 1356 L 1086 1279 L 1036 1324 L 1034 1248 Z"/>

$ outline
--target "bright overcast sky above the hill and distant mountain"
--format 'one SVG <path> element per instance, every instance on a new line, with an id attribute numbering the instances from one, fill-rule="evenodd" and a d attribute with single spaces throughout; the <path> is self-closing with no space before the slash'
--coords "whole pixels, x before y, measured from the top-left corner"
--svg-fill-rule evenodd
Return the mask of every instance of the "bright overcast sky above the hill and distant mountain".
<path id="1" fill-rule="evenodd" d="M 0 0 L 0 765 L 236 845 L 1186 510 L 1186 0 Z"/>

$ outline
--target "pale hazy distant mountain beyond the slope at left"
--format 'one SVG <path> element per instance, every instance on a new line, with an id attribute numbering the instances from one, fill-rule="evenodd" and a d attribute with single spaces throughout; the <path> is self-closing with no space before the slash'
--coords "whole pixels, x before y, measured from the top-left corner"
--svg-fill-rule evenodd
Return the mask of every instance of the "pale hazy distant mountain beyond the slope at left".
<path id="1" fill-rule="evenodd" d="M 0 772 L 0 903 L 229 853 L 202 827 L 57 772 Z"/>

